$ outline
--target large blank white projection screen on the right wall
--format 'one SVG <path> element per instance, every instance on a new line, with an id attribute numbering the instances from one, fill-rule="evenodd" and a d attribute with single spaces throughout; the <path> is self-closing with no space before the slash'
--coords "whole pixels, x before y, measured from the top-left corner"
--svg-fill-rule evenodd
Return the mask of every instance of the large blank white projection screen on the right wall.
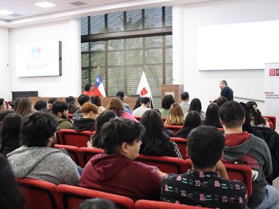
<path id="1" fill-rule="evenodd" d="M 197 27 L 197 70 L 264 69 L 279 62 L 279 21 Z"/>

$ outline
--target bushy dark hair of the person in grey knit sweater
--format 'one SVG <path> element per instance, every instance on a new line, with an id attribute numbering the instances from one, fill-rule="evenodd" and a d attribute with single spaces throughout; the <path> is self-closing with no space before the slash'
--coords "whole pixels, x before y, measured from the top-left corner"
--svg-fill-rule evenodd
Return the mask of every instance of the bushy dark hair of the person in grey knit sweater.
<path id="1" fill-rule="evenodd" d="M 57 122 L 52 114 L 37 111 L 22 121 L 22 144 L 28 147 L 47 146 L 48 139 L 54 136 Z"/>

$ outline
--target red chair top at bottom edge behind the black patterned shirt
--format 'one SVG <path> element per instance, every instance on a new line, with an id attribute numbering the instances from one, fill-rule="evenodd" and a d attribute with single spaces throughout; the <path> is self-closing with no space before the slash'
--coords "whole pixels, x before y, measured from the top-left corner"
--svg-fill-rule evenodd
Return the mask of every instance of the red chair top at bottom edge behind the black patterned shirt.
<path id="1" fill-rule="evenodd" d="M 159 201 L 139 200 L 135 202 L 135 209 L 198 209 L 195 206 L 186 206 L 174 203 L 165 203 Z M 209 209 L 209 208 L 207 208 Z"/>

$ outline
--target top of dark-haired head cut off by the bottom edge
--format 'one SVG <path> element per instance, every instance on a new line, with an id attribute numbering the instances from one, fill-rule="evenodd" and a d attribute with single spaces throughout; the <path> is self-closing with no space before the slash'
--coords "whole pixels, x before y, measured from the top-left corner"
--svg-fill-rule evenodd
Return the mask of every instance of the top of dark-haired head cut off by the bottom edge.
<path id="1" fill-rule="evenodd" d="M 86 199 L 77 209 L 116 209 L 114 202 L 108 199 Z"/>

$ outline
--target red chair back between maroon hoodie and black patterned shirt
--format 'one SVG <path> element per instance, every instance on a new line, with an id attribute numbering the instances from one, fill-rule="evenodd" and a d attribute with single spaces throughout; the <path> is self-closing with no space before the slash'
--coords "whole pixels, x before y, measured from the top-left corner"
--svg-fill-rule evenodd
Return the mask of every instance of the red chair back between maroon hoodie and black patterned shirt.
<path id="1" fill-rule="evenodd" d="M 140 154 L 135 161 L 149 164 L 153 167 L 158 167 L 160 171 L 165 173 L 185 173 L 184 160 L 177 157 L 167 156 L 150 156 Z"/>

